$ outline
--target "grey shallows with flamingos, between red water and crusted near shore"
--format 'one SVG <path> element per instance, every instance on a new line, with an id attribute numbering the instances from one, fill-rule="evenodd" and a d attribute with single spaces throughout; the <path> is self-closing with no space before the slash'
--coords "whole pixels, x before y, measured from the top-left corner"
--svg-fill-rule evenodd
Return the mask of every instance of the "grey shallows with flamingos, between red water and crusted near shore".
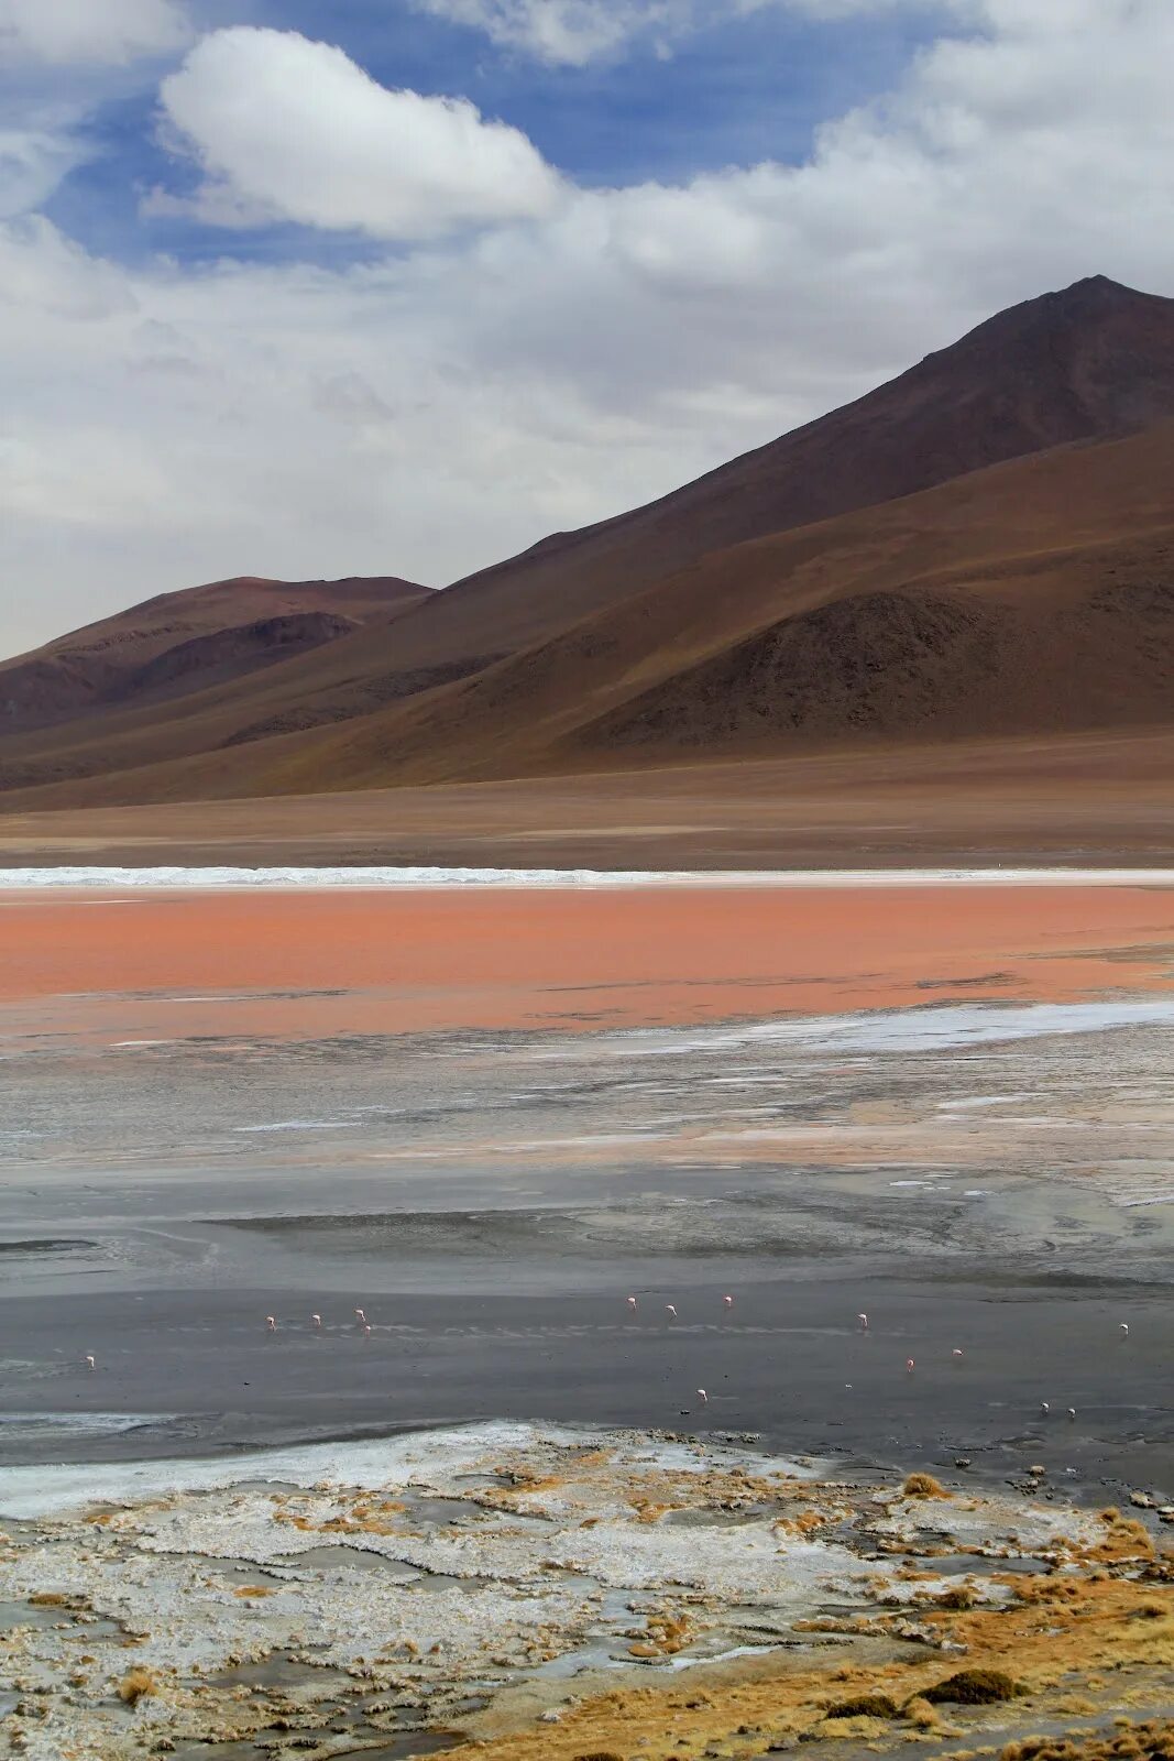
<path id="1" fill-rule="evenodd" d="M 1167 1490 L 1172 1023 L 21 1043 L 0 1451 L 540 1416 Z"/>

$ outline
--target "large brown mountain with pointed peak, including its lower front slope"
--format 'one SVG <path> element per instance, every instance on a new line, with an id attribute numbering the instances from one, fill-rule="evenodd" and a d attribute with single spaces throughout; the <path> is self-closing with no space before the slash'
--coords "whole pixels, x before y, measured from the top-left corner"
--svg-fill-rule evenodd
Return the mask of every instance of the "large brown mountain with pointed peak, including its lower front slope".
<path id="1" fill-rule="evenodd" d="M 0 787 L 180 799 L 1174 724 L 1169 423 L 1174 301 L 1077 282 L 394 622 L 26 727 Z"/>

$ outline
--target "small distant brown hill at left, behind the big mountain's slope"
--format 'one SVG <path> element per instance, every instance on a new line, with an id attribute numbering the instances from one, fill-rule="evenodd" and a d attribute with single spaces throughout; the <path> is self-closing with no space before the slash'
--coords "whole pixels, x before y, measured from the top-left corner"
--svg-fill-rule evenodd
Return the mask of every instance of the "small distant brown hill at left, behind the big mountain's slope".
<path id="1" fill-rule="evenodd" d="M 428 595 L 429 588 L 394 576 L 238 576 L 160 593 L 0 664 L 0 726 L 19 736 L 125 703 L 202 690 L 385 623 Z"/>

